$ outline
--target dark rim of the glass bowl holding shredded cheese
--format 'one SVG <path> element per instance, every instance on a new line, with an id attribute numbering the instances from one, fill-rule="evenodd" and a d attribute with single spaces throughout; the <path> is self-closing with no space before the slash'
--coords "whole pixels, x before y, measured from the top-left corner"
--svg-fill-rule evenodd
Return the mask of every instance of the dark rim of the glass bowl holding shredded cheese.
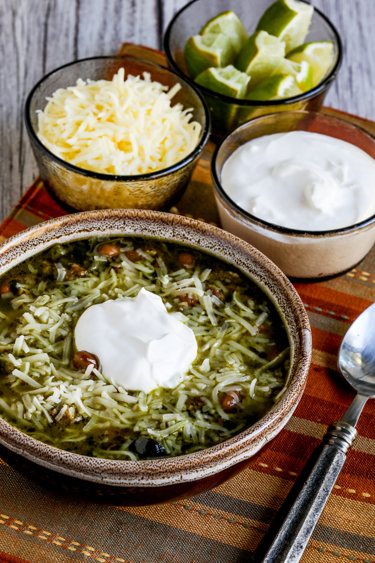
<path id="1" fill-rule="evenodd" d="M 179 160 L 175 164 L 172 164 L 172 166 L 169 166 L 168 168 L 162 168 L 161 170 L 157 170 L 155 172 L 148 172 L 146 174 L 138 174 L 138 175 L 132 175 L 132 176 L 121 176 L 121 175 L 113 175 L 113 174 L 103 174 L 103 173 L 99 173 L 99 172 L 93 172 L 91 170 L 86 170 L 84 168 L 79 168 L 78 166 L 75 166 L 74 164 L 71 164 L 71 163 L 67 162 L 66 160 L 63 160 L 62 158 L 56 157 L 55 154 L 53 154 L 49 149 L 47 149 L 47 147 L 45 145 L 43 145 L 42 141 L 39 140 L 37 133 L 35 132 L 35 129 L 31 124 L 31 119 L 30 119 L 30 104 L 31 104 L 31 100 L 33 99 L 34 93 L 37 90 L 37 88 L 40 86 L 40 84 L 43 84 L 43 82 L 46 81 L 49 77 L 51 77 L 53 74 L 61 72 L 61 71 L 65 70 L 66 68 L 69 68 L 70 66 L 77 65 L 80 62 L 93 61 L 93 60 L 103 60 L 103 59 L 104 60 L 124 60 L 124 59 L 129 60 L 130 59 L 130 60 L 134 60 L 134 61 L 141 61 L 141 62 L 143 62 L 147 65 L 155 66 L 156 68 L 166 70 L 168 73 L 175 75 L 175 77 L 177 77 L 179 81 L 182 79 L 182 81 L 184 82 L 184 84 L 182 84 L 182 87 L 188 86 L 189 88 L 192 88 L 192 90 L 196 93 L 196 95 L 198 96 L 198 99 L 200 100 L 200 102 L 202 104 L 202 109 L 204 110 L 204 114 L 205 114 L 205 125 L 204 125 L 204 127 L 202 127 L 201 140 L 198 142 L 197 146 L 195 147 L 195 149 L 191 153 L 189 153 L 182 160 Z M 145 69 L 145 71 L 147 72 L 147 69 Z M 160 178 L 160 177 L 172 174 L 174 172 L 177 172 L 179 169 L 181 169 L 184 166 L 186 166 L 187 164 L 191 163 L 193 160 L 195 160 L 198 157 L 198 155 L 201 154 L 202 150 L 205 148 L 205 146 L 206 146 L 206 144 L 209 140 L 210 132 L 211 132 L 210 111 L 209 111 L 209 108 L 207 106 L 206 100 L 204 99 L 201 92 L 198 90 L 198 88 L 196 86 L 194 86 L 193 84 L 189 84 L 188 81 L 186 81 L 186 79 L 184 79 L 183 76 L 181 76 L 179 73 L 175 72 L 173 69 L 166 68 L 166 66 L 162 66 L 162 65 L 158 64 L 157 62 L 148 61 L 148 60 L 142 59 L 140 57 L 132 57 L 132 56 L 127 56 L 127 55 L 125 55 L 125 56 L 113 55 L 113 56 L 87 57 L 85 59 L 78 59 L 76 61 L 67 62 L 65 65 L 58 66 L 58 68 L 51 70 L 51 72 L 49 72 L 48 74 L 45 74 L 35 84 L 35 86 L 33 86 L 33 88 L 31 88 L 31 91 L 29 92 L 28 97 L 26 98 L 26 102 L 25 102 L 24 118 L 25 118 L 26 130 L 28 131 L 31 140 L 33 140 L 35 142 L 35 144 L 38 145 L 39 149 L 42 150 L 42 152 L 49 159 L 54 160 L 57 164 L 60 164 L 60 166 L 63 166 L 65 168 L 67 168 L 68 170 L 70 170 L 71 172 L 75 172 L 76 174 L 80 174 L 82 176 L 88 176 L 90 178 L 95 178 L 96 180 L 103 180 L 103 181 L 110 181 L 110 182 L 135 182 L 135 181 L 139 182 L 139 181 L 144 181 L 144 180 L 156 180 L 156 178 Z"/>

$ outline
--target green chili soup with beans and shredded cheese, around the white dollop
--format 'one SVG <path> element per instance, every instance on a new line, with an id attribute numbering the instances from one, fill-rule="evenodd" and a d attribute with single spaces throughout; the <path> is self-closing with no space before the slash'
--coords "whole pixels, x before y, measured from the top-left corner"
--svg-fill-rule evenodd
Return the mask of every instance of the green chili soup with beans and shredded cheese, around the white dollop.
<path id="1" fill-rule="evenodd" d="M 183 314 L 198 354 L 175 388 L 145 393 L 102 373 L 74 329 L 90 306 L 141 288 Z M 181 244 L 128 237 L 56 244 L 0 279 L 0 413 L 46 444 L 112 459 L 196 452 L 250 427 L 282 396 L 286 329 L 232 265 Z"/>

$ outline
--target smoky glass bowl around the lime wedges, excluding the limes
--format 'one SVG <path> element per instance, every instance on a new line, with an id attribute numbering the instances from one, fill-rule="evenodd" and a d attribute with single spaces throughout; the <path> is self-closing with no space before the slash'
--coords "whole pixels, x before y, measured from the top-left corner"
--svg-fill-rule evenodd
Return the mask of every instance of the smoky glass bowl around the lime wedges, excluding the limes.
<path id="1" fill-rule="evenodd" d="M 189 83 L 195 84 L 189 78 L 184 64 L 183 51 L 189 37 L 199 33 L 211 17 L 226 10 L 236 12 L 247 32 L 251 34 L 255 31 L 261 15 L 273 2 L 274 0 L 193 0 L 175 14 L 165 32 L 164 49 L 169 65 L 175 71 L 183 74 Z M 265 102 L 235 100 L 197 84 L 197 88 L 202 92 L 209 105 L 215 135 L 226 135 L 242 123 L 259 115 L 275 113 L 276 111 L 319 110 L 324 96 L 326 96 L 328 88 L 341 66 L 341 40 L 337 30 L 327 17 L 317 8 L 314 8 L 309 34 L 305 41 L 332 41 L 335 62 L 327 77 L 318 86 L 299 96 Z"/>

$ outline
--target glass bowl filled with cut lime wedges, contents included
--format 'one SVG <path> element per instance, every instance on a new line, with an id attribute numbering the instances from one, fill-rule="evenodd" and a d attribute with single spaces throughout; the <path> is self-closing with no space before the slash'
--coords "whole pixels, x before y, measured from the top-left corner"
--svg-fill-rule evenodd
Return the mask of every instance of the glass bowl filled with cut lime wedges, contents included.
<path id="1" fill-rule="evenodd" d="M 204 95 L 218 136 L 260 115 L 319 110 L 342 60 L 335 26 L 301 0 L 193 0 L 164 48 Z"/>

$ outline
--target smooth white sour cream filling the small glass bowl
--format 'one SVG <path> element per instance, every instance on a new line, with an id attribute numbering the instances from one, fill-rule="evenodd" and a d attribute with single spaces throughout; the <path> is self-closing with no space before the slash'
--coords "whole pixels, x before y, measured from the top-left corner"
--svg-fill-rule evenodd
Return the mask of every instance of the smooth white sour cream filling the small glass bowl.
<path id="1" fill-rule="evenodd" d="M 320 133 L 255 138 L 224 163 L 221 181 L 242 209 L 290 229 L 341 229 L 375 213 L 375 160 Z"/>

